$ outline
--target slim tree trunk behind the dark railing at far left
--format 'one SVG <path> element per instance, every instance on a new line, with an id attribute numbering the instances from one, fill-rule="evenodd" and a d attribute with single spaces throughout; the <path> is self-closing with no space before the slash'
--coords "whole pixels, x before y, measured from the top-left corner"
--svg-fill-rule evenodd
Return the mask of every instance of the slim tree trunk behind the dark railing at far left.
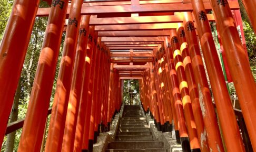
<path id="1" fill-rule="evenodd" d="M 11 112 L 11 116 L 10 116 L 11 123 L 18 120 L 18 101 L 19 101 L 20 95 L 21 95 L 21 79 L 19 79 L 18 88 L 16 90 L 15 97 L 14 97 L 12 112 Z M 16 136 L 16 131 L 8 134 L 5 152 L 13 152 L 15 136 Z"/>

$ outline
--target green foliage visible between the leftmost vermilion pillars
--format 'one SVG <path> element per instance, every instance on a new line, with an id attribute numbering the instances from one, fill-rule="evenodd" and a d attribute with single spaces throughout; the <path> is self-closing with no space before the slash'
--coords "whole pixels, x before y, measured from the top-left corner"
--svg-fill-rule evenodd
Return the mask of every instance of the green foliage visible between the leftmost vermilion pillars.
<path id="1" fill-rule="evenodd" d="M 5 26 L 7 24 L 7 20 L 9 17 L 9 14 L 12 9 L 12 1 L 11 0 L 0 0 L 0 40 L 3 37 Z M 41 2 L 40 7 L 48 7 L 48 4 L 46 2 Z M 19 96 L 19 104 L 18 104 L 18 120 L 21 120 L 25 118 L 26 112 L 27 112 L 27 106 L 29 102 L 29 97 L 32 90 L 32 85 L 36 73 L 37 63 L 40 56 L 40 52 L 42 49 L 43 41 L 44 41 L 44 35 L 45 35 L 45 28 L 47 25 L 47 19 L 48 17 L 36 17 L 35 18 L 35 24 L 33 27 L 33 31 L 31 34 L 31 39 L 28 44 L 26 58 L 23 64 L 23 69 L 21 73 L 21 96 Z M 64 38 L 65 33 L 62 37 L 62 43 L 60 50 L 63 49 L 64 45 Z M 60 55 L 58 57 L 57 66 L 56 66 L 56 72 L 55 72 L 55 79 L 54 79 L 54 85 L 53 85 L 53 91 L 51 95 L 51 103 L 50 107 L 52 106 L 52 102 L 54 99 L 54 93 L 56 88 L 56 80 L 58 75 L 58 69 L 60 67 L 60 60 L 61 60 L 62 52 L 60 51 Z M 48 130 L 48 124 L 50 123 L 50 116 L 48 116 L 47 119 L 47 129 Z M 21 137 L 22 128 L 18 129 L 16 131 L 16 138 L 14 143 L 14 151 L 17 151 L 19 139 Z M 46 135 L 47 136 L 47 135 Z M 6 140 L 7 136 L 4 138 L 4 142 L 1 148 L 1 152 L 4 151 L 6 146 Z"/>

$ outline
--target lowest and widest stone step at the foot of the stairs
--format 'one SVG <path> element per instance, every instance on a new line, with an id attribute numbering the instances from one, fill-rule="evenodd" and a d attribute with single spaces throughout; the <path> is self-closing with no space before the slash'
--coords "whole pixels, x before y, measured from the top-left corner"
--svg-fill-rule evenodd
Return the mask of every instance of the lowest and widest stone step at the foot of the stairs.
<path id="1" fill-rule="evenodd" d="M 134 141 L 134 142 L 111 142 L 109 149 L 146 149 L 146 148 L 164 148 L 163 142 L 158 141 Z"/>

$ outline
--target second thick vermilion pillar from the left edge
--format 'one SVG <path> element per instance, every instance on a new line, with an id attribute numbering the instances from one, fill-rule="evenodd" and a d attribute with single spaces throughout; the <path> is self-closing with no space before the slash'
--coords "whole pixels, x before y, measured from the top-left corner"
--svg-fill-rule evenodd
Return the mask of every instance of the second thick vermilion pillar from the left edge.
<path id="1" fill-rule="evenodd" d="M 67 3 L 68 1 L 64 1 L 63 7 L 56 5 L 51 8 L 18 151 L 39 151 L 41 148 Z M 76 37 L 74 39 L 76 41 Z M 73 63 L 72 56 L 70 62 Z"/>

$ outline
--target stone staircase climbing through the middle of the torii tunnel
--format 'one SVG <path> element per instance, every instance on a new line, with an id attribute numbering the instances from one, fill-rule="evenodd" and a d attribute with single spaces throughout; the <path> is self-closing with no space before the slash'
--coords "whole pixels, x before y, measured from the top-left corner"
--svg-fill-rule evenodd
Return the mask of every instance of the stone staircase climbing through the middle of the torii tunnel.
<path id="1" fill-rule="evenodd" d="M 114 142 L 106 151 L 165 151 L 164 143 L 154 141 L 139 105 L 125 105 Z"/>

